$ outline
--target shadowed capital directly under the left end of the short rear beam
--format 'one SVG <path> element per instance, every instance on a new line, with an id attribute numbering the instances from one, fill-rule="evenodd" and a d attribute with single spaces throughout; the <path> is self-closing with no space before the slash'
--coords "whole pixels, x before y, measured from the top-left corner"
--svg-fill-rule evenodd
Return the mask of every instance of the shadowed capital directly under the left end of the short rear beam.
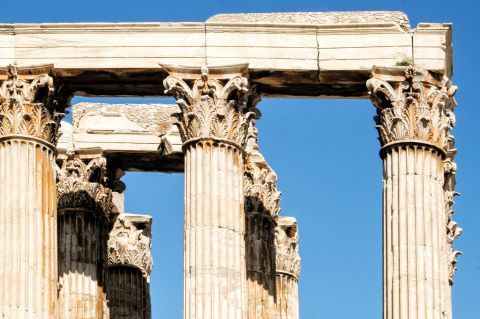
<path id="1" fill-rule="evenodd" d="M 70 154 L 63 162 L 58 176 L 58 209 L 82 208 L 100 212 L 108 219 L 112 207 L 112 191 L 104 186 L 106 164 L 103 157 L 85 163 Z"/>

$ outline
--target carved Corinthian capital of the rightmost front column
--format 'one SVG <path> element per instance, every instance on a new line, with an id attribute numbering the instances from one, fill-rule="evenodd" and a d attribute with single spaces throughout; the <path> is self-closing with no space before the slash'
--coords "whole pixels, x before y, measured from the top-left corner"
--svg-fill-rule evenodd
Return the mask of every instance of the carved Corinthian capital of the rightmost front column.
<path id="1" fill-rule="evenodd" d="M 448 79 L 413 67 L 375 68 L 367 88 L 382 146 L 413 142 L 444 153 L 453 147 L 457 87 Z"/>

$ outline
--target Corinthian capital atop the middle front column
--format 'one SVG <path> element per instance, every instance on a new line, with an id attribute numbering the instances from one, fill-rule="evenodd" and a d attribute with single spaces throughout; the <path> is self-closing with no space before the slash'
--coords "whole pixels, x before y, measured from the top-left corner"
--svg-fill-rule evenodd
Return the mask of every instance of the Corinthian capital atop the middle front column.
<path id="1" fill-rule="evenodd" d="M 163 66 L 169 73 L 165 93 L 180 107 L 174 114 L 184 142 L 199 138 L 227 140 L 244 147 L 258 101 L 247 79 L 247 65 L 200 70 Z"/>

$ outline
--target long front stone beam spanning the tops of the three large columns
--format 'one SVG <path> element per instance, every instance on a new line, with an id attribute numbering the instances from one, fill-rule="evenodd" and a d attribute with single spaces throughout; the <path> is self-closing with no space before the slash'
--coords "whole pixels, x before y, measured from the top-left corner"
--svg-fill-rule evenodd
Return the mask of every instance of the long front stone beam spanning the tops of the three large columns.
<path id="1" fill-rule="evenodd" d="M 451 75 L 449 24 L 399 12 L 218 15 L 204 23 L 0 25 L 0 67 L 53 64 L 78 95 L 164 94 L 160 65 L 249 64 L 264 96 L 366 98 L 373 66 Z"/>

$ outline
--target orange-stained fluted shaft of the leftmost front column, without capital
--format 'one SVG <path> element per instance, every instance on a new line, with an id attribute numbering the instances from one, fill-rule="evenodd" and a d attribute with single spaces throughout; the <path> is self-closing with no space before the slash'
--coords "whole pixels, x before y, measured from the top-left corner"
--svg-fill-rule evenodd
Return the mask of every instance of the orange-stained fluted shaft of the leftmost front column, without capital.
<path id="1" fill-rule="evenodd" d="M 0 140 L 0 315 L 52 318 L 57 293 L 55 151 Z"/>

